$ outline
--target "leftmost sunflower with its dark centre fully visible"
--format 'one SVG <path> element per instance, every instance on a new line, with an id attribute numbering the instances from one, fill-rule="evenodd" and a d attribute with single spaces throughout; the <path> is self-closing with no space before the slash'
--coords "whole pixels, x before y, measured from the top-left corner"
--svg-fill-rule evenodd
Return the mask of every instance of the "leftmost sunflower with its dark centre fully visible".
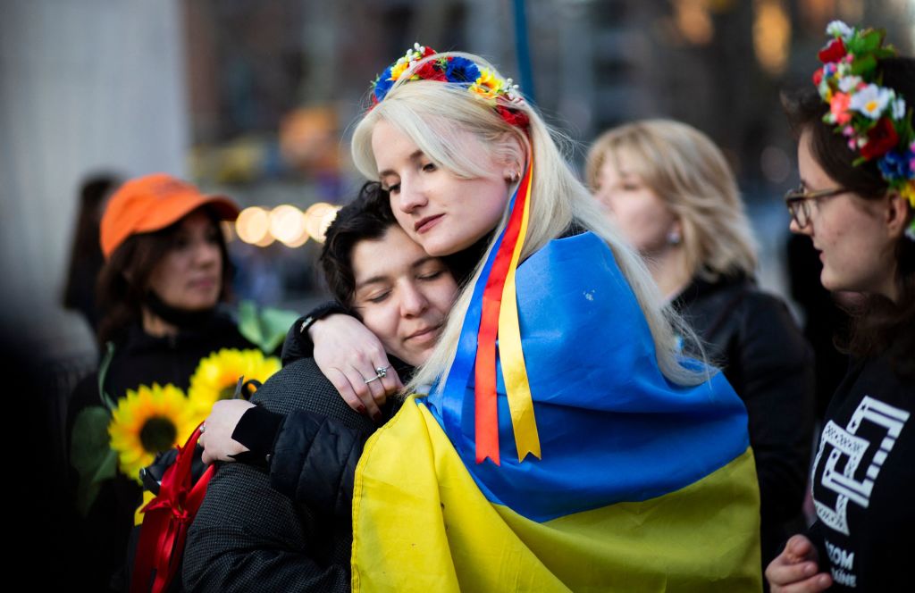
<path id="1" fill-rule="evenodd" d="M 151 464 L 156 453 L 183 444 L 200 419 L 175 385 L 128 389 L 108 425 L 121 471 L 139 482 L 140 469 Z"/>

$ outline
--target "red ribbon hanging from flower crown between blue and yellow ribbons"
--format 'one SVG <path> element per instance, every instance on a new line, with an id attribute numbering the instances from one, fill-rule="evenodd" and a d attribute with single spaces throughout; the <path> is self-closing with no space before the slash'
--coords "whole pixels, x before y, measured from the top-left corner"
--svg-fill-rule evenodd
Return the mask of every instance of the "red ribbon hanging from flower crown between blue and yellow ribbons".
<path id="1" fill-rule="evenodd" d="M 521 232 L 527 187 L 531 183 L 531 167 L 527 167 L 511 208 L 508 226 L 502 243 L 492 262 L 490 277 L 483 290 L 482 312 L 477 334 L 477 361 L 474 367 L 474 396 L 476 410 L 477 463 L 486 458 L 500 465 L 499 459 L 499 408 L 496 399 L 496 337 L 499 333 L 499 308 L 502 288 L 508 275 L 511 256 Z M 523 240 L 523 238 L 522 238 Z"/>

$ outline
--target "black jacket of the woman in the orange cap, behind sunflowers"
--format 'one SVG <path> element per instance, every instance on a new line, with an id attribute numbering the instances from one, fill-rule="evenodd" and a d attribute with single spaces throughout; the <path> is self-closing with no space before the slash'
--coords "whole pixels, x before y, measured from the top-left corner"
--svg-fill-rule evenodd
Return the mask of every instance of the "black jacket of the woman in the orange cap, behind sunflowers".
<path id="1" fill-rule="evenodd" d="M 156 338 L 139 326 L 129 328 L 124 340 L 114 348 L 105 377 L 106 392 L 115 400 L 139 385 L 172 383 L 187 390 L 190 376 L 201 358 L 221 348 L 254 348 L 238 332 L 227 315 L 214 314 L 197 329 L 182 330 L 176 336 Z M 83 379 L 73 391 L 67 414 L 67 441 L 73 422 L 88 406 L 102 405 L 98 373 Z M 71 477 L 75 484 L 76 476 Z M 87 590 L 125 590 L 124 559 L 127 541 L 134 525 L 134 512 L 141 501 L 137 482 L 118 472 L 102 484 L 98 497 L 85 518 L 74 518 L 72 553 L 80 555 L 84 572 L 81 581 Z"/>

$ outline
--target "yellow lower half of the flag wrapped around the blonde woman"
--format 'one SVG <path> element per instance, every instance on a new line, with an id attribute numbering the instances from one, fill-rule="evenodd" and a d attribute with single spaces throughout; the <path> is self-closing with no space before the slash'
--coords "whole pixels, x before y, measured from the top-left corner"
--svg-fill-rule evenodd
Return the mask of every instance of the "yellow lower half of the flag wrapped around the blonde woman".
<path id="1" fill-rule="evenodd" d="M 411 398 L 356 473 L 353 591 L 730 593 L 761 590 L 759 563 L 749 448 L 678 491 L 536 523 L 488 501 Z"/>

